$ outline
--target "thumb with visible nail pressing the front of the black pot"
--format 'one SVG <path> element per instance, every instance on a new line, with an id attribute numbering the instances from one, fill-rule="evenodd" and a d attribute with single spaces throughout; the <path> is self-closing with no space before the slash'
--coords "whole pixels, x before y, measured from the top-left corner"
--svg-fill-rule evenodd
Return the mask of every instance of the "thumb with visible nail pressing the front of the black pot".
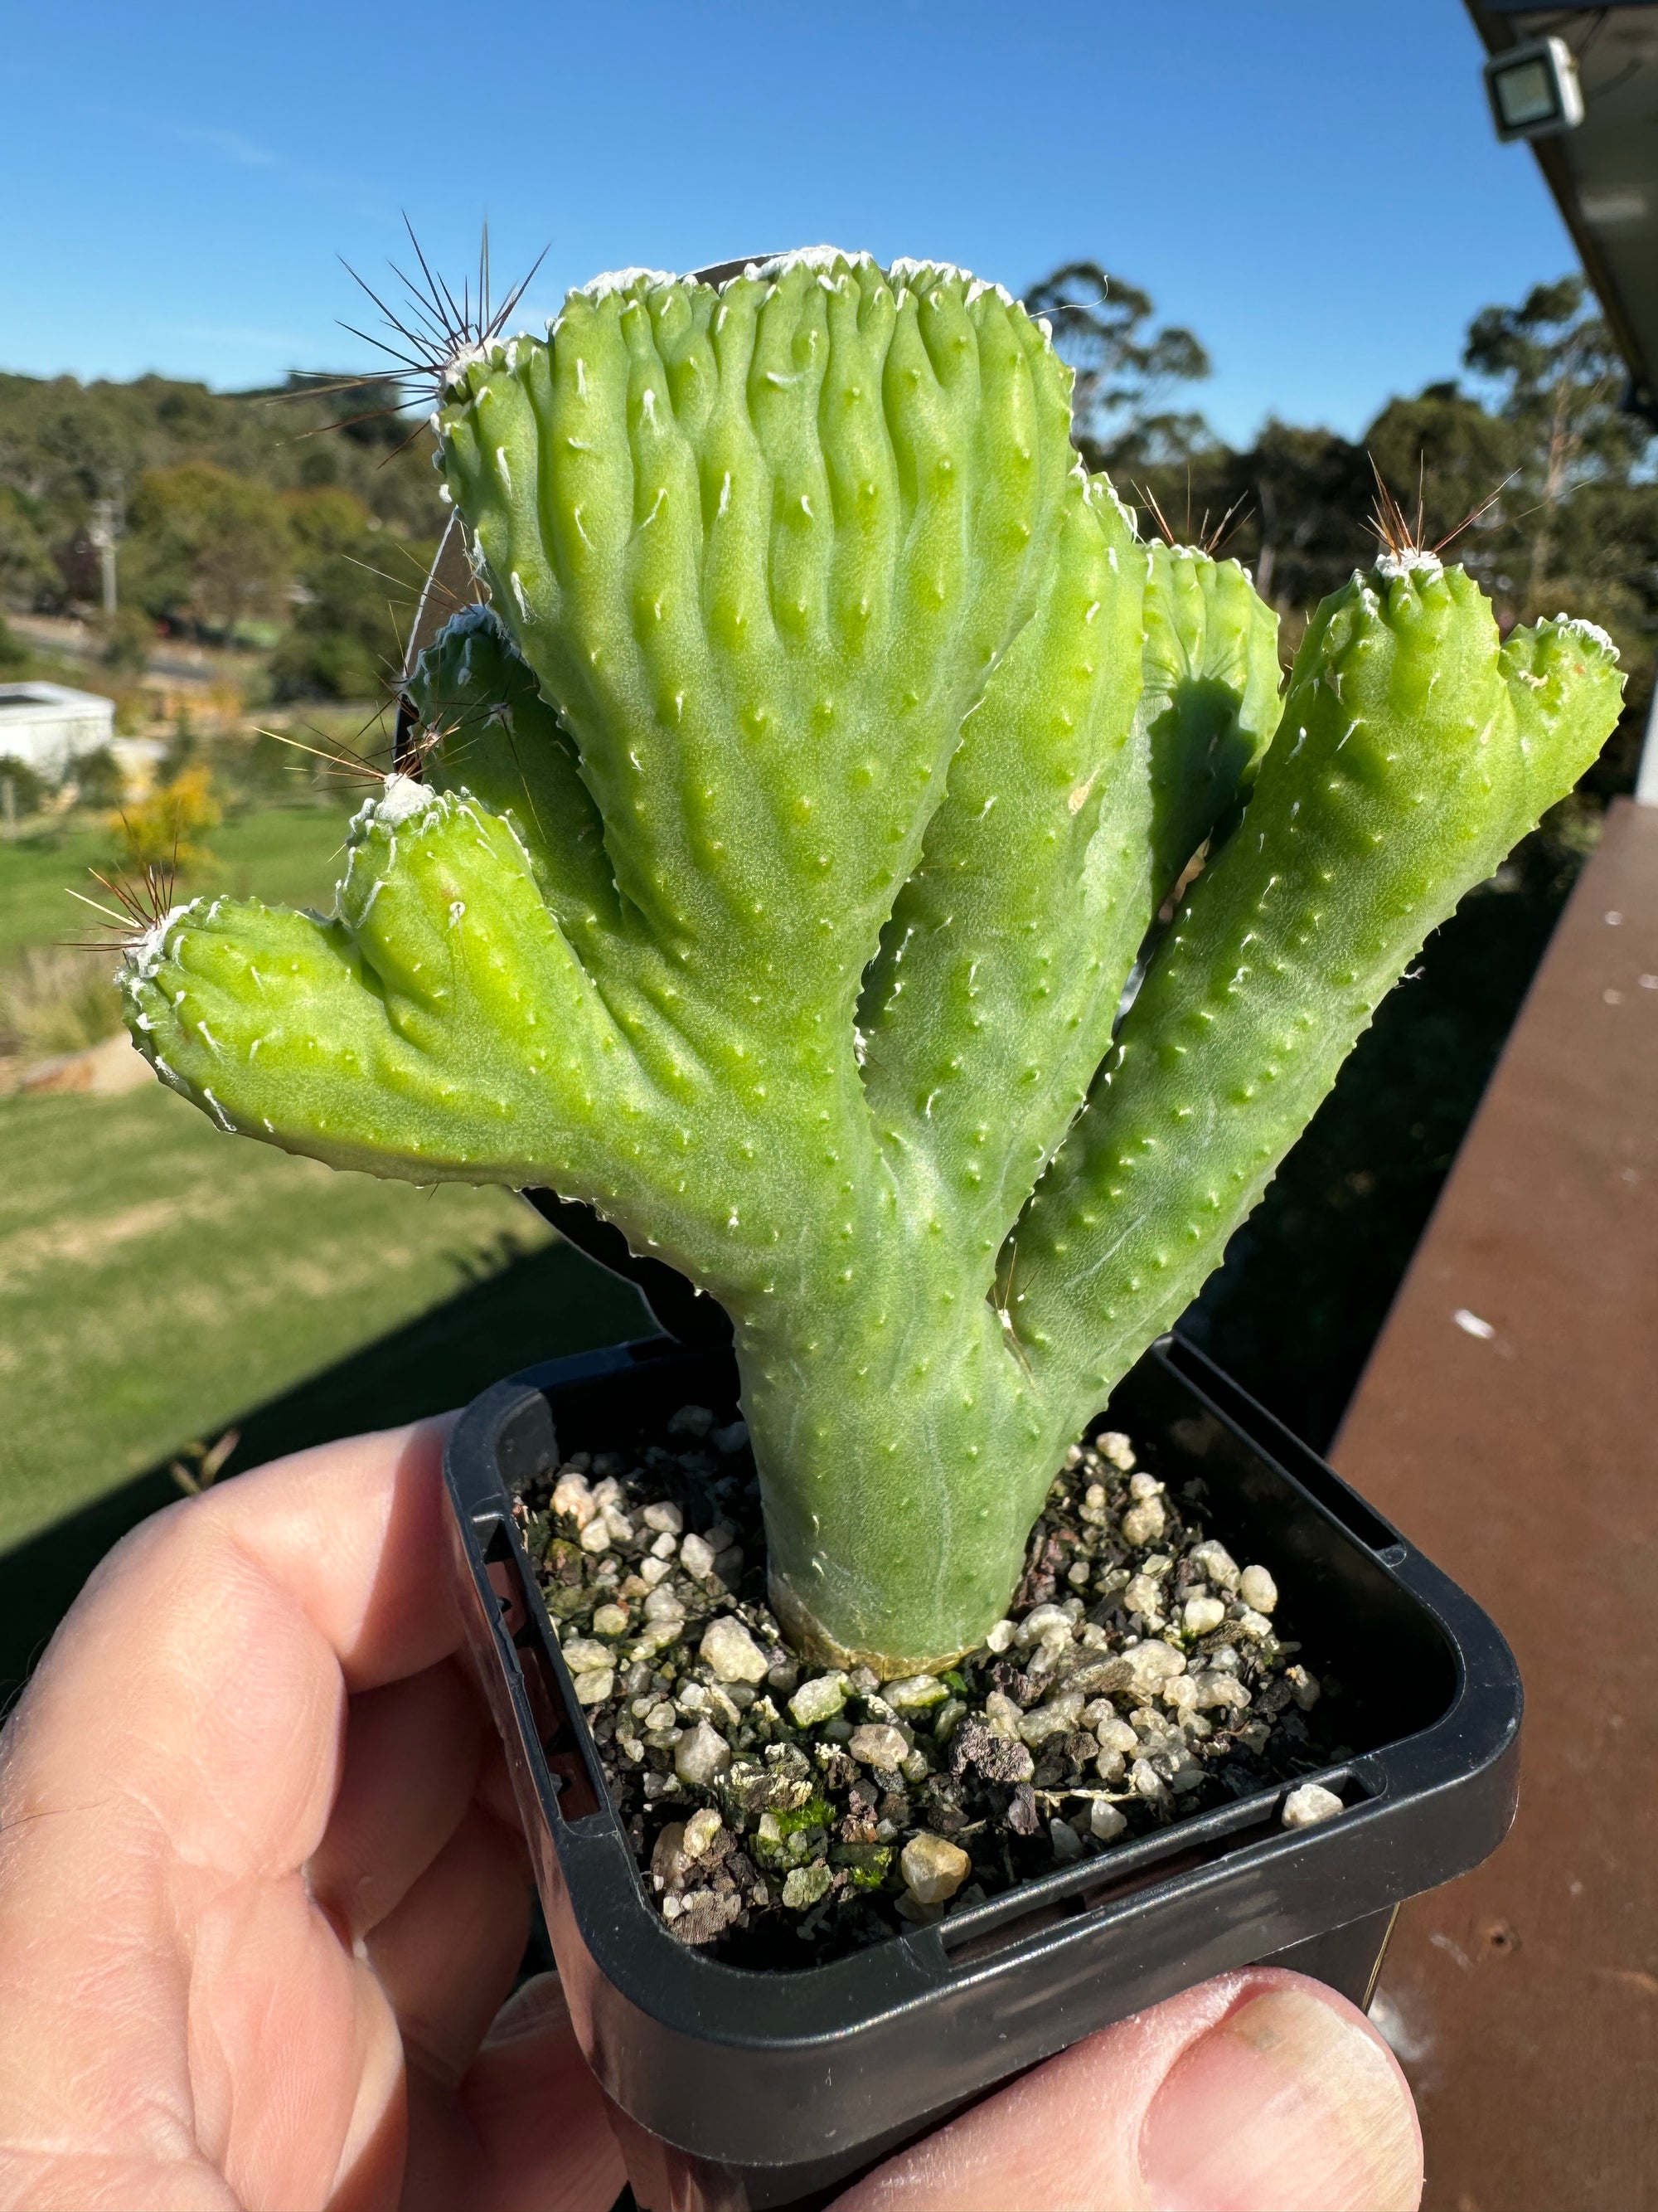
<path id="1" fill-rule="evenodd" d="M 833 2212 L 1413 2212 L 1419 2194 L 1410 2090 L 1364 2013 L 1249 1969 L 1032 2068 Z"/>

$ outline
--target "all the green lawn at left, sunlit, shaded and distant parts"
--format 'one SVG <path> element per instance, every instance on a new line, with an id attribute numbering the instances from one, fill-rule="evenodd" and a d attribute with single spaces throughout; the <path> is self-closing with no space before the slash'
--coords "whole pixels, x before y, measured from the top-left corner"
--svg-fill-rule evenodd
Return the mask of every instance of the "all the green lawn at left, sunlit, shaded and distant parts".
<path id="1" fill-rule="evenodd" d="M 203 885 L 327 905 L 343 827 L 230 823 Z M 62 887 L 104 849 L 0 845 L 0 962 L 66 933 Z M 234 1473 L 648 1327 L 506 1190 L 334 1175 L 159 1086 L 0 1097 L 0 1712 L 192 1440 L 241 1429 Z"/>

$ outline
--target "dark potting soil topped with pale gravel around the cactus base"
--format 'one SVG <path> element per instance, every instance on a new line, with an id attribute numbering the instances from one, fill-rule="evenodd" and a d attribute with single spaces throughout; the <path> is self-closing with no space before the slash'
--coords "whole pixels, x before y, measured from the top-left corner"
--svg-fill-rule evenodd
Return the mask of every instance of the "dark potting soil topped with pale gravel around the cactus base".
<path id="1" fill-rule="evenodd" d="M 743 1422 L 577 1451 L 517 1500 L 646 1891 L 741 1966 L 809 1966 L 1349 1756 L 1269 1564 L 1116 1431 L 1072 1447 L 1006 1619 L 940 1674 L 802 1666 Z M 1291 1825 L 1340 1801 L 1291 1792 Z"/>

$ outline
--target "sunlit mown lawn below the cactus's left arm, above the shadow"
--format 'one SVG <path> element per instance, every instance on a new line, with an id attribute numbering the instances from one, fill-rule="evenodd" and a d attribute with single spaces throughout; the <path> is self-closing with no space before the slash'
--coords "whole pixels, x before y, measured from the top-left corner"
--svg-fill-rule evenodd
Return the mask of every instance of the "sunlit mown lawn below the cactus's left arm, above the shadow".
<path id="1" fill-rule="evenodd" d="M 0 1099 L 0 1548 L 546 1241 L 221 1137 L 159 1086 Z"/>

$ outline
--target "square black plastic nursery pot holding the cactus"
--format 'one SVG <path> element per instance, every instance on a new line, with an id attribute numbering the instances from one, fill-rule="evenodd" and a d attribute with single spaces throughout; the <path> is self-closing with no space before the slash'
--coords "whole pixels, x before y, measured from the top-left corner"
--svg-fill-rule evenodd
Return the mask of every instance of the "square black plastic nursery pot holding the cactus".
<path id="1" fill-rule="evenodd" d="M 444 1460 L 471 1644 L 570 2015 L 615 2106 L 685 2154 L 676 2205 L 827 2201 L 1010 2075 L 1234 1966 L 1271 1960 L 1366 2004 L 1399 1902 L 1503 1838 L 1521 1683 L 1492 1621 L 1165 1336 L 1096 1427 L 1125 1429 L 1169 1489 L 1198 1480 L 1234 1557 L 1273 1562 L 1344 1688 L 1355 1752 L 1315 1778 L 1346 1809 L 1284 1829 L 1284 1790 L 1265 1790 L 798 1973 L 679 1944 L 610 1809 L 511 1506 L 570 1451 L 615 1449 L 685 1402 L 736 1418 L 730 1352 L 617 1345 L 497 1383 Z"/>

